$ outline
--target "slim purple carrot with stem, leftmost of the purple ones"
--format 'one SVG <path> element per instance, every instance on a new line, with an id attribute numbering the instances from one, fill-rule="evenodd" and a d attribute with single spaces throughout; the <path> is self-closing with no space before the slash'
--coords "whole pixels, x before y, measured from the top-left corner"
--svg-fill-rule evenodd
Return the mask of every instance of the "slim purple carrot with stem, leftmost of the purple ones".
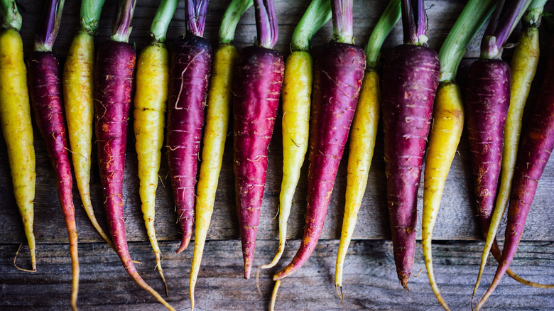
<path id="1" fill-rule="evenodd" d="M 56 174 L 56 188 L 70 241 L 73 275 L 71 306 L 73 310 L 77 310 L 79 258 L 75 206 L 73 206 L 72 195 L 73 179 L 69 156 L 67 155 L 67 136 L 62 102 L 62 75 L 58 59 L 52 53 L 52 47 L 60 28 L 63 4 L 64 0 L 49 0 L 46 3 L 45 15 L 38 24 L 35 49 L 28 63 L 28 83 L 38 129 L 40 135 L 43 136 L 46 150 L 50 155 Z"/>

